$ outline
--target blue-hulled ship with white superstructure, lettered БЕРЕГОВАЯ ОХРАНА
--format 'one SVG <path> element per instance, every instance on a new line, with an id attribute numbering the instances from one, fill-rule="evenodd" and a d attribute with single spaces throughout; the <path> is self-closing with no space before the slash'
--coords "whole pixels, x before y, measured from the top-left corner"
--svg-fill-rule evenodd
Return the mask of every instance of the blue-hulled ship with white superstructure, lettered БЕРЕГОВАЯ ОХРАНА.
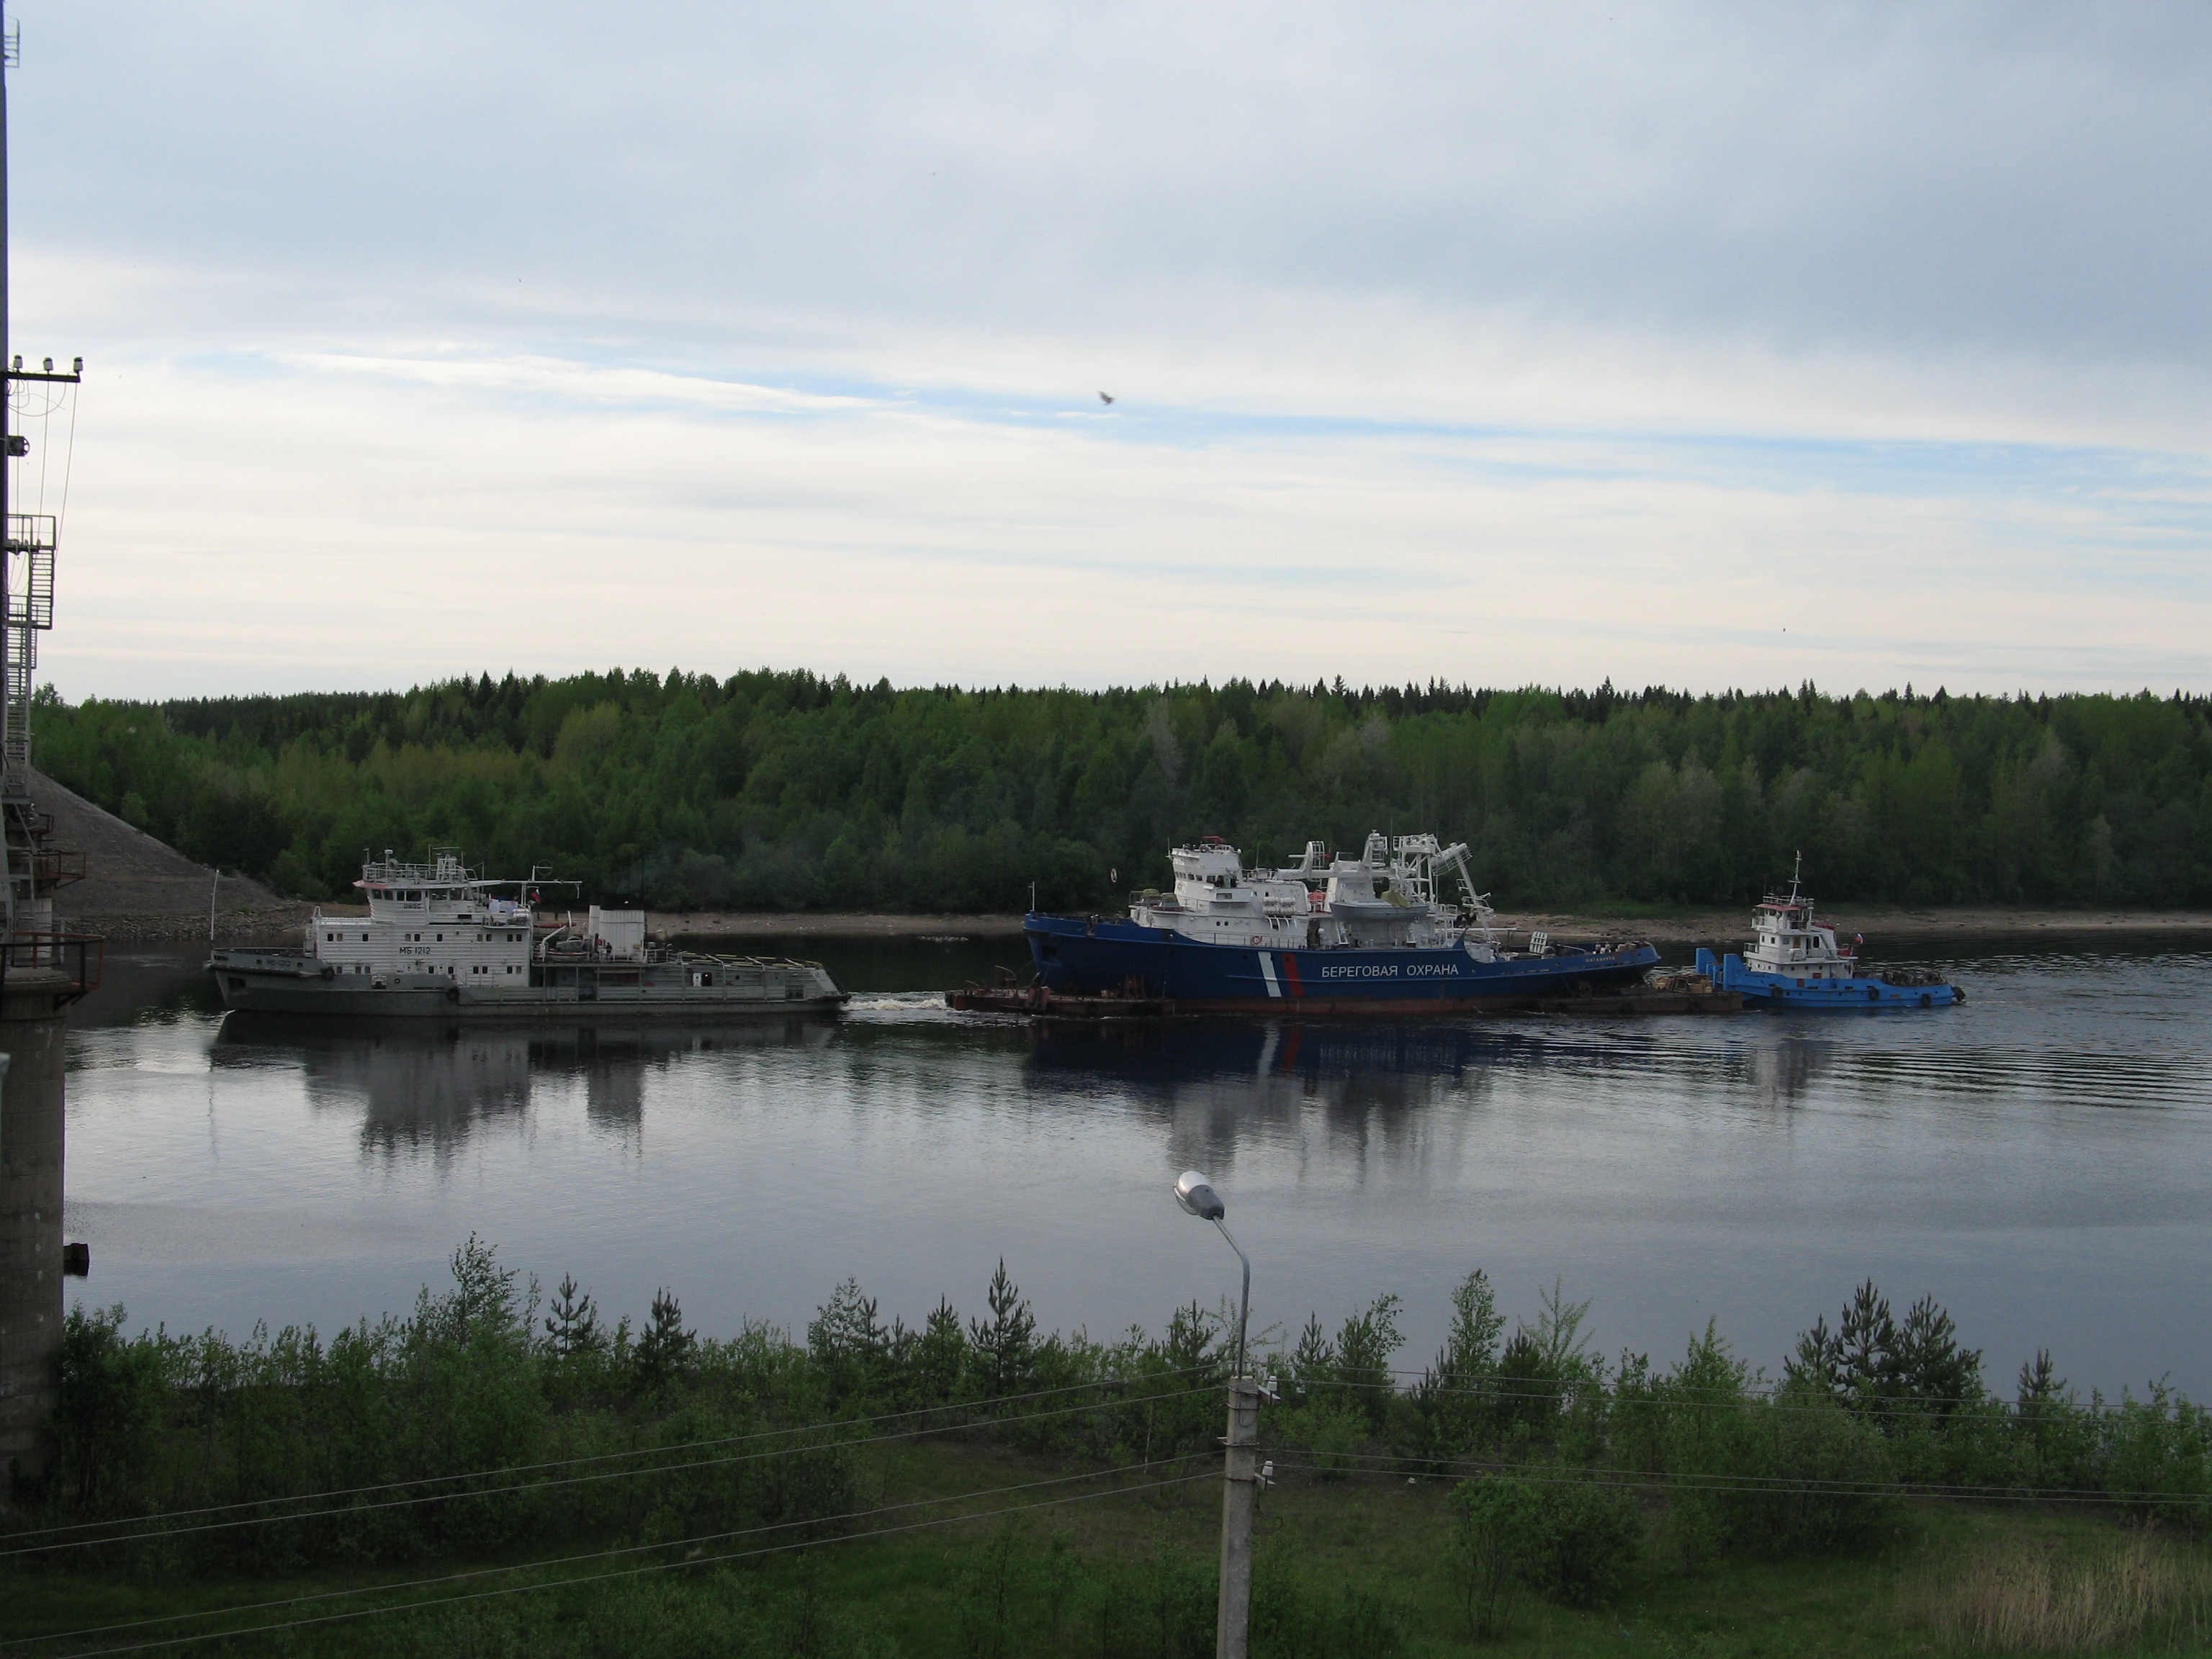
<path id="1" fill-rule="evenodd" d="M 1225 1013 L 1458 1013 L 1628 984 L 1650 945 L 1502 947 L 1504 929 L 1467 874 L 1467 847 L 1436 836 L 1367 836 L 1358 858 L 1318 841 L 1283 869 L 1245 869 L 1206 836 L 1168 854 L 1175 889 L 1133 896 L 1128 920 L 1022 920 L 1037 982 L 1053 995 L 1166 998 Z M 1464 907 L 1440 883 L 1458 876 Z"/>

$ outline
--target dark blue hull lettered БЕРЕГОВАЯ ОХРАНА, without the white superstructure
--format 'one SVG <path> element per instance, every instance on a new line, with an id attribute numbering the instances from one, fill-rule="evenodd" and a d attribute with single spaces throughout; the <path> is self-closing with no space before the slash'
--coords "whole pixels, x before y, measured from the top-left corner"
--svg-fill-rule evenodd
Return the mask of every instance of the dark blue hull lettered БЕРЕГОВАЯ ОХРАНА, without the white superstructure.
<path id="1" fill-rule="evenodd" d="M 1168 998 L 1208 1013 L 1502 1013 L 1632 984 L 1659 960 L 1650 945 L 1493 962 L 1458 945 L 1252 949 L 1068 916 L 1029 916 L 1022 929 L 1037 980 L 1055 995 Z"/>

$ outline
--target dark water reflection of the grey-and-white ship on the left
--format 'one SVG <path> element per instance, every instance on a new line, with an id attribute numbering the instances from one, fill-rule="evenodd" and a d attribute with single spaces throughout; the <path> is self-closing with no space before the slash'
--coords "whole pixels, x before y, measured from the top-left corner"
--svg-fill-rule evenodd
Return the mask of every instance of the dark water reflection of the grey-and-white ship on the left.
<path id="1" fill-rule="evenodd" d="M 478 1126 L 529 1110 L 533 1084 L 577 1079 L 586 1117 L 635 1133 L 646 1077 L 677 1062 L 732 1048 L 823 1048 L 836 1022 L 821 1015 L 754 1018 L 712 1026 L 387 1024 L 352 1020 L 254 1020 L 232 1013 L 212 1064 L 254 1068 L 281 1055 L 301 1066 L 307 1097 L 358 1108 L 365 1150 L 456 1152 Z"/>

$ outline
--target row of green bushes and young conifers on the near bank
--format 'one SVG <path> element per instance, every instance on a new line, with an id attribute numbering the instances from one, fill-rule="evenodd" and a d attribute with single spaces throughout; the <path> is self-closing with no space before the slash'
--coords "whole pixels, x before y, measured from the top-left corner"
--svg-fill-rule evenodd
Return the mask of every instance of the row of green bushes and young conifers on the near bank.
<path id="1" fill-rule="evenodd" d="M 1416 1555 L 1453 1575 L 1471 1635 L 1493 1635 L 1515 1593 L 1601 1606 L 1655 1575 L 1880 1551 L 1911 1526 L 1913 1500 L 2212 1524 L 2201 1409 L 2163 1389 L 2084 1405 L 2046 1354 L 2000 1398 L 1933 1301 L 1898 1316 L 1863 1285 L 1834 1329 L 1805 1332 L 1778 1380 L 1710 1327 L 1670 1365 L 1606 1360 L 1586 1314 L 1555 1290 L 1509 1334 L 1473 1272 L 1422 1369 L 1398 1365 L 1396 1296 L 1334 1332 L 1307 1321 L 1263 1345 L 1267 1467 L 1298 1489 L 1453 1482 Z M 1159 1336 L 1040 1332 L 1004 1265 L 973 1318 L 940 1301 L 920 1325 L 885 1323 L 847 1281 L 803 1340 L 770 1325 L 701 1338 L 668 1294 L 641 1325 L 608 1325 L 573 1281 L 540 1303 L 471 1239 L 447 1292 L 330 1340 L 124 1336 L 122 1310 L 73 1312 L 58 1458 L 44 1482 L 18 1482 L 0 1553 L 133 1584 L 540 1551 L 599 1559 L 573 1553 L 584 1544 L 624 1566 L 703 1571 L 719 1553 L 931 1522 L 927 1504 L 880 1495 L 885 1460 L 911 1469 L 925 1444 L 998 1449 L 973 1473 L 1022 1502 L 1093 1478 L 1155 1495 L 1210 1478 L 1228 1360 L 1225 1321 L 1194 1305 Z M 1009 1453 L 1031 1462 L 1011 1469 Z M 1053 1619 L 1102 1632 L 1084 1648 L 1181 1650 L 1166 1626 L 1157 1644 L 1113 1637 L 1126 1613 L 1115 1597 L 1166 1595 L 1159 1619 L 1206 1650 L 1203 1568 L 1164 1555 L 1082 1566 L 1053 1571 L 1066 1593 L 1104 1601 Z M 1385 1604 L 1301 1604 L 1294 1582 L 1263 1584 L 1256 1621 L 1276 1635 L 1256 1652 L 1391 1648 Z M 1332 1621 L 1338 1639 L 1316 1639 Z"/>

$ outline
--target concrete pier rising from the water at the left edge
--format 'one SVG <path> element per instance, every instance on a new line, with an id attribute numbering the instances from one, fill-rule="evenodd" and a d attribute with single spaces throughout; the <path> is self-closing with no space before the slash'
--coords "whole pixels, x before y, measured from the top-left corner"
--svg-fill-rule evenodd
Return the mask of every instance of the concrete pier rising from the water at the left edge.
<path id="1" fill-rule="evenodd" d="M 62 1347 L 66 975 L 0 969 L 0 1498 L 51 1458 Z M 53 980 L 49 984 L 46 980 Z M 73 989 L 73 987 L 69 987 Z"/>

